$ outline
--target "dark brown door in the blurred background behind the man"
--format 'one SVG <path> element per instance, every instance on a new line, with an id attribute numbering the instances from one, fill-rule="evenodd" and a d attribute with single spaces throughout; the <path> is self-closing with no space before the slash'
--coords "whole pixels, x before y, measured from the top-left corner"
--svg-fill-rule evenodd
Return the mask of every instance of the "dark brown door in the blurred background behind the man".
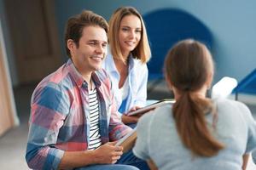
<path id="1" fill-rule="evenodd" d="M 52 0 L 15 2 L 3 0 L 3 8 L 18 85 L 38 83 L 62 65 L 55 3 Z"/>

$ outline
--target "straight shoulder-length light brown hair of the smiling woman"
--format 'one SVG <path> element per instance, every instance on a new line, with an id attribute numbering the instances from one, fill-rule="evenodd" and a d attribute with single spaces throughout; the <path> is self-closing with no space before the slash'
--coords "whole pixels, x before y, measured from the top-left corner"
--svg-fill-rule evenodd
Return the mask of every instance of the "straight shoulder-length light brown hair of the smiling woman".
<path id="1" fill-rule="evenodd" d="M 119 45 L 119 28 L 121 20 L 127 15 L 137 16 L 142 23 L 142 35 L 141 40 L 137 44 L 137 47 L 131 51 L 131 54 L 135 59 L 140 59 L 143 63 L 148 62 L 151 57 L 151 51 L 148 44 L 148 36 L 146 27 L 143 22 L 143 17 L 136 8 L 133 7 L 121 7 L 118 8 L 109 20 L 109 34 L 108 40 L 110 45 L 110 51 L 114 59 L 121 59 L 125 62 L 125 57 L 121 53 L 121 48 Z"/>

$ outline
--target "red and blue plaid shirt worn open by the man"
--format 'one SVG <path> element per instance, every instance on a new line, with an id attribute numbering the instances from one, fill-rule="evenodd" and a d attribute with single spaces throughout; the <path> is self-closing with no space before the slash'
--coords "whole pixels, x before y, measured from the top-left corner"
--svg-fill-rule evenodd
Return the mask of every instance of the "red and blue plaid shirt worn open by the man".
<path id="1" fill-rule="evenodd" d="M 92 74 L 99 99 L 102 144 L 131 128 L 119 116 L 106 71 Z M 57 169 L 65 150 L 87 150 L 90 133 L 87 83 L 71 59 L 45 77 L 32 94 L 26 161 L 33 169 Z"/>

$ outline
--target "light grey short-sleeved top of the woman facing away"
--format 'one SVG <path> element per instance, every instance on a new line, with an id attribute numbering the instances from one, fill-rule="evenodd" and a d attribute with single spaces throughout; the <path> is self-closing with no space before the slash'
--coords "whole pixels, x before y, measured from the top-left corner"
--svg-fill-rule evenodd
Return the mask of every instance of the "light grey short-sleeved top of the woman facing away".
<path id="1" fill-rule="evenodd" d="M 159 169 L 166 170 L 236 170 L 241 169 L 242 155 L 256 149 L 256 122 L 241 102 L 218 99 L 218 122 L 214 136 L 225 144 L 217 156 L 192 156 L 177 134 L 172 105 L 145 114 L 137 124 L 134 154 L 151 158 Z M 212 115 L 206 116 L 212 123 Z"/>

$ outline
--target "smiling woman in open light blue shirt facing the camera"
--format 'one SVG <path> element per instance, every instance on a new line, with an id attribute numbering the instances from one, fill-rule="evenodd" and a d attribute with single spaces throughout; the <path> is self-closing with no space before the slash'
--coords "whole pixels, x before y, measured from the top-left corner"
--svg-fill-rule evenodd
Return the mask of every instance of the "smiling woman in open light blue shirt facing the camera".
<path id="1" fill-rule="evenodd" d="M 151 51 L 141 14 L 133 7 L 118 8 L 109 20 L 110 50 L 102 67 L 108 71 L 122 121 L 137 123 L 139 116 L 127 116 L 146 105 L 148 62 Z"/>

